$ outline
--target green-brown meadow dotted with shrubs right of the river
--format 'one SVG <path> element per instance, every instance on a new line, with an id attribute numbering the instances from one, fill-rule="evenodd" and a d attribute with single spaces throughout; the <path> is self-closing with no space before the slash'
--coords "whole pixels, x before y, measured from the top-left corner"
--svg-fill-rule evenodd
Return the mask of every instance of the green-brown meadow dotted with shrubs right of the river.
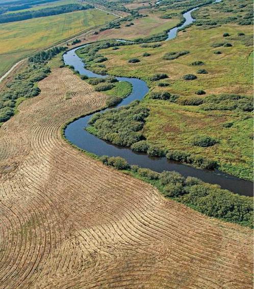
<path id="1" fill-rule="evenodd" d="M 227 32 L 230 37 L 223 37 Z M 237 36 L 245 33 L 244 38 Z M 162 42 L 156 49 L 142 48 L 140 45 L 121 46 L 119 50 L 101 50 L 108 58 L 104 63 L 112 75 L 141 77 L 150 86 L 150 91 L 168 91 L 183 97 L 197 97 L 197 90 L 205 90 L 206 95 L 236 93 L 251 96 L 252 91 L 252 46 L 246 45 L 251 38 L 250 26 L 236 24 L 223 25 L 213 29 L 191 27 L 181 32 L 176 39 Z M 212 47 L 217 42 L 230 42 L 232 47 Z M 248 41 L 247 41 L 248 42 Z M 190 53 L 175 60 L 165 60 L 168 52 L 189 50 Z M 221 54 L 214 54 L 215 51 Z M 142 57 L 147 52 L 149 57 Z M 140 59 L 130 64 L 131 58 Z M 190 65 L 201 60 L 202 66 Z M 199 68 L 208 74 L 197 74 Z M 155 73 L 166 73 L 169 86 L 158 87 L 157 82 L 148 79 Z M 196 80 L 185 81 L 183 76 L 194 74 Z M 201 96 L 204 97 L 204 96 Z M 220 169 L 245 179 L 252 178 L 252 117 L 249 112 L 204 111 L 198 106 L 182 106 L 167 101 L 151 100 L 146 97 L 143 105 L 150 108 L 144 134 L 150 142 L 168 149 L 180 149 L 200 154 L 220 163 Z M 233 122 L 231 128 L 223 126 Z M 213 147 L 200 148 L 191 144 L 196 135 L 204 134 L 219 139 Z"/>

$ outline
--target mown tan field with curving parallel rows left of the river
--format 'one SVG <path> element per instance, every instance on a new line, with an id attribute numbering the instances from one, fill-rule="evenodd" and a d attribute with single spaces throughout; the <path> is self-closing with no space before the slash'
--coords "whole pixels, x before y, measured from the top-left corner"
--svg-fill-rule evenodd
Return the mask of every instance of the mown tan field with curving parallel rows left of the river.
<path id="1" fill-rule="evenodd" d="M 106 96 L 67 68 L 39 87 L 0 129 L 1 289 L 252 288 L 250 229 L 69 146 L 61 126 Z"/>

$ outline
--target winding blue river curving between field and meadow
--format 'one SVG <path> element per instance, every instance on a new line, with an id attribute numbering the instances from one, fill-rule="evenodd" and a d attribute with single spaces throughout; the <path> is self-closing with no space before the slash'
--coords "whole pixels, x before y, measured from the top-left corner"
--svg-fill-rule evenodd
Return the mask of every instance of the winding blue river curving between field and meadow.
<path id="1" fill-rule="evenodd" d="M 219 2 L 217 0 L 216 2 Z M 193 9 L 191 10 L 193 11 Z M 191 11 L 187 13 L 191 13 Z M 190 14 L 188 14 L 190 15 Z M 189 24 L 190 22 L 188 22 Z M 174 28 L 173 28 L 174 29 Z M 177 28 L 179 29 L 179 28 Z M 176 30 L 177 31 L 177 30 Z M 175 35 L 176 35 L 175 31 Z M 169 35 L 173 35 L 170 34 Z M 175 36 L 174 36 L 175 37 Z M 172 38 L 171 38 L 172 39 Z M 84 45 L 85 46 L 85 45 Z M 75 70 L 78 70 L 81 75 L 87 75 L 88 77 L 99 77 L 104 78 L 106 76 L 97 75 L 92 73 L 92 71 L 84 67 L 82 60 L 75 54 L 75 51 L 80 49 L 77 47 L 73 50 L 66 52 L 63 55 L 64 62 L 67 65 L 73 65 Z M 142 80 L 136 78 L 125 78 L 117 77 L 119 81 L 128 81 L 132 84 L 133 90 L 129 97 L 122 100 L 117 107 L 122 105 L 128 105 L 134 100 L 141 100 L 144 95 L 148 92 L 148 87 L 146 83 Z M 86 150 L 88 152 L 94 153 L 96 155 L 108 155 L 108 156 L 120 156 L 126 159 L 130 164 L 138 164 L 141 167 L 150 168 L 156 172 L 162 171 L 176 171 L 181 173 L 183 176 L 192 176 L 201 179 L 202 181 L 219 184 L 221 188 L 231 190 L 238 193 L 239 195 L 252 196 L 253 195 L 253 183 L 250 181 L 241 180 L 234 176 L 225 174 L 218 170 L 200 170 L 180 162 L 169 161 L 166 157 L 150 157 L 146 154 L 136 153 L 128 148 L 122 148 L 114 146 L 113 144 L 95 137 L 94 135 L 88 133 L 84 128 L 91 115 L 81 117 L 70 123 L 65 129 L 65 137 L 71 141 L 75 146 Z"/>

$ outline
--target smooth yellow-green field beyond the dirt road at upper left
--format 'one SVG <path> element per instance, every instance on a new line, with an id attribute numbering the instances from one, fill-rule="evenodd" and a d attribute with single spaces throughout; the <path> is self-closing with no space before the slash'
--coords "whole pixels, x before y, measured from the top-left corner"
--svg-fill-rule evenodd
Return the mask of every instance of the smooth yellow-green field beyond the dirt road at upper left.
<path id="1" fill-rule="evenodd" d="M 19 59 L 116 17 L 92 9 L 0 25 L 0 75 Z"/>

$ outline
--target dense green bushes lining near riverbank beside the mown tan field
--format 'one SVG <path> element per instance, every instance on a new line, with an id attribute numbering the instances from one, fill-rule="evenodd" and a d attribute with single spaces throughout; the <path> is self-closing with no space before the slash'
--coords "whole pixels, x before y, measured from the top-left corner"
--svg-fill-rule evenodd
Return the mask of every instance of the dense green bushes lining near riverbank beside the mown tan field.
<path id="1" fill-rule="evenodd" d="M 134 176 L 152 183 L 165 197 L 173 198 L 208 216 L 227 222 L 253 227 L 253 200 L 221 189 L 218 185 L 202 182 L 194 177 L 185 178 L 174 171 L 157 173 L 138 165 L 129 165 L 121 157 L 101 156 L 100 160 L 118 170 L 128 170 Z"/>

